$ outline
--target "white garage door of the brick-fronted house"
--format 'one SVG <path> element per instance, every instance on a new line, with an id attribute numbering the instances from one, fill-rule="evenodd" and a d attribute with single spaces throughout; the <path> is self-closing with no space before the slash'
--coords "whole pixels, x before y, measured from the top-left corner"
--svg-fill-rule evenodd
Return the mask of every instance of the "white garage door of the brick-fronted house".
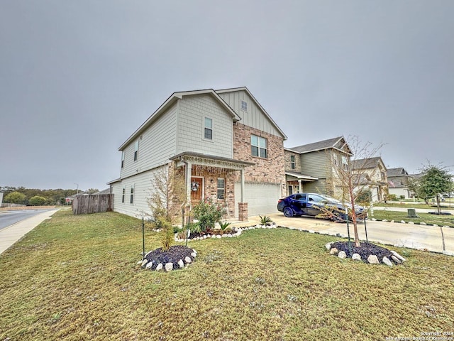
<path id="1" fill-rule="evenodd" d="M 277 200 L 281 197 L 279 183 L 245 183 L 245 202 L 248 215 L 265 215 L 277 212 Z M 238 202 L 241 199 L 241 183 L 235 184 L 235 214 L 238 217 Z"/>

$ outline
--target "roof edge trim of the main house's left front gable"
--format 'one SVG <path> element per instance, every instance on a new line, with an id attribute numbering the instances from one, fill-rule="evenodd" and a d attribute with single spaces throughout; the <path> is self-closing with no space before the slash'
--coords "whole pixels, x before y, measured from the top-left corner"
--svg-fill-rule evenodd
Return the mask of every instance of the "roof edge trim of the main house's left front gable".
<path id="1" fill-rule="evenodd" d="M 174 92 L 173 94 L 170 95 L 169 98 L 165 100 L 164 103 L 161 104 L 159 108 L 153 114 L 151 114 L 148 119 L 143 122 L 141 126 L 138 127 L 136 131 L 133 132 L 131 136 L 128 137 L 126 141 L 121 144 L 120 147 L 118 147 L 118 151 L 123 151 L 128 144 L 131 144 L 132 141 L 138 138 L 140 134 L 143 133 L 148 127 L 153 124 L 153 122 L 161 116 L 165 112 L 166 109 L 168 109 L 172 104 L 177 102 L 178 99 L 182 99 L 184 96 L 193 96 L 193 95 L 200 95 L 200 94 L 210 94 L 216 101 L 221 104 L 221 107 L 226 109 L 226 112 L 231 115 L 232 119 L 234 122 L 240 121 L 241 117 L 236 114 L 236 112 L 213 90 L 213 89 L 205 89 L 205 90 L 194 90 L 194 91 L 182 91 L 182 92 Z"/>

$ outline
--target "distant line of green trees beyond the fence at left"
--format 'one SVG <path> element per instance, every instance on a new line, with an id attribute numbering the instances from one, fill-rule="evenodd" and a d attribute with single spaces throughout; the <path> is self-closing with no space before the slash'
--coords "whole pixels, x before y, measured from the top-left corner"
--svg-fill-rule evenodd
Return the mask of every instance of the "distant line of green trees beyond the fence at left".
<path id="1" fill-rule="evenodd" d="M 42 205 L 65 205 L 66 198 L 77 193 L 77 190 L 39 190 L 36 188 L 0 186 L 0 190 L 4 192 L 3 202 L 11 204 L 21 204 L 29 206 Z M 81 192 L 79 190 L 79 192 Z M 84 193 L 96 193 L 96 188 L 90 188 Z"/>

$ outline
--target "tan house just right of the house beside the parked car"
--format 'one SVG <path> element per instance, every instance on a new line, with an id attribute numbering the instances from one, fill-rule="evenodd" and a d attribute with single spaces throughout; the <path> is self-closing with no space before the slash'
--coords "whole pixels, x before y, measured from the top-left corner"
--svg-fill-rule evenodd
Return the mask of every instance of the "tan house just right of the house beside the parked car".
<path id="1" fill-rule="evenodd" d="M 358 175 L 355 183 L 359 188 L 368 188 L 372 202 L 385 200 L 388 193 L 387 169 L 380 156 L 350 161 L 352 172 Z"/>

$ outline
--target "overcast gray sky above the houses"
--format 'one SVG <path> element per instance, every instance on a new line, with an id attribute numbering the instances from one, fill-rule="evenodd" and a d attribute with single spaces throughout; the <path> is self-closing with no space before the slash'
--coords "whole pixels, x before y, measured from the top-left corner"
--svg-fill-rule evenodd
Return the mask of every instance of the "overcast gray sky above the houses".
<path id="1" fill-rule="evenodd" d="M 0 1 L 0 185 L 107 188 L 176 91 L 246 86 L 285 146 L 454 166 L 454 1 Z M 452 170 L 453 168 L 451 168 Z"/>

